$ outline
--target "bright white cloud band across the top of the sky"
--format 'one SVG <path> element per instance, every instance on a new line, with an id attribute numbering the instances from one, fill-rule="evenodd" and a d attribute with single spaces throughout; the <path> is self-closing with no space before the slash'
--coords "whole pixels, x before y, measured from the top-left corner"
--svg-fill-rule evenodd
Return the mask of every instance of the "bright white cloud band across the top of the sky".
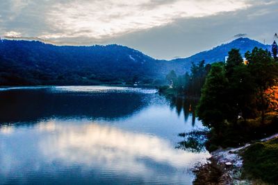
<path id="1" fill-rule="evenodd" d="M 104 0 L 56 3 L 47 21 L 54 33 L 42 38 L 92 37 L 102 39 L 124 33 L 165 26 L 176 19 L 204 17 L 250 6 L 240 1 L 154 1 Z"/>

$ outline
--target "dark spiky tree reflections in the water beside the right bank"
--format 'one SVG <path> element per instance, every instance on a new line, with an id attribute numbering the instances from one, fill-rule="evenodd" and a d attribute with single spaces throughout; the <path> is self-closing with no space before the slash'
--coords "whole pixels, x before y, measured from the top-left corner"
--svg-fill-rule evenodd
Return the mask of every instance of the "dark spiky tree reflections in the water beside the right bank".
<path id="1" fill-rule="evenodd" d="M 192 115 L 193 125 L 195 125 L 195 120 L 196 120 L 196 115 L 195 115 L 196 105 L 197 105 L 197 100 L 192 98 L 172 97 L 170 99 L 171 108 L 175 108 L 179 116 L 181 112 L 183 112 L 185 121 L 188 121 L 189 116 Z"/>

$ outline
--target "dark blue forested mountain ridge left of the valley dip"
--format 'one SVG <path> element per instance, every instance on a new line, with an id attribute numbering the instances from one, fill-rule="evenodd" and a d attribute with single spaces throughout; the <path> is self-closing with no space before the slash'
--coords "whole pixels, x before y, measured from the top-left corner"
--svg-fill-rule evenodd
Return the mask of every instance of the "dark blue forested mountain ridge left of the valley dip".
<path id="1" fill-rule="evenodd" d="M 95 84 L 161 78 L 161 61 L 125 46 L 0 42 L 1 84 Z"/>

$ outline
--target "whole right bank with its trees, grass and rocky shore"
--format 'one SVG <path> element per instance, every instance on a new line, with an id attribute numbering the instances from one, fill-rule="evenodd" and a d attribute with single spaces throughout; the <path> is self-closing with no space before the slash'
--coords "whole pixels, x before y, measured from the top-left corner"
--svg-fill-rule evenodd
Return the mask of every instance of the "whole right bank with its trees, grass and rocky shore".
<path id="1" fill-rule="evenodd" d="M 277 51 L 254 48 L 244 61 L 231 49 L 226 62 L 202 61 L 190 74 L 171 71 L 166 78 L 170 86 L 161 93 L 194 98 L 195 113 L 209 129 L 205 145 L 212 157 L 195 169 L 195 184 L 278 182 Z"/>

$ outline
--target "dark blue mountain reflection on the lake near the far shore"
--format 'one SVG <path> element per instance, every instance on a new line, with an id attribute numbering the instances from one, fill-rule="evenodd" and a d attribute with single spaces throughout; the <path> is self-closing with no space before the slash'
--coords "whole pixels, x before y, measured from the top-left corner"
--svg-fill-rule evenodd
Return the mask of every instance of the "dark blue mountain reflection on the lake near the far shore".
<path id="1" fill-rule="evenodd" d="M 147 94 L 63 92 L 25 89 L 0 92 L 0 123 L 38 121 L 52 116 L 121 118 L 145 107 Z"/>

